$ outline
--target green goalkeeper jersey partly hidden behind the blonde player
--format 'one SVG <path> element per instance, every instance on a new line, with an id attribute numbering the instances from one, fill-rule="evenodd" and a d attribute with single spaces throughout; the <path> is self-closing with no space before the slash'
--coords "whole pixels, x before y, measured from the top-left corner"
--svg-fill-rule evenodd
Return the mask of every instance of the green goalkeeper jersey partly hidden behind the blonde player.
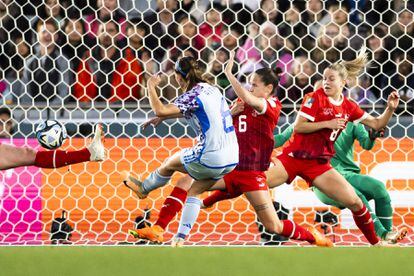
<path id="1" fill-rule="evenodd" d="M 290 125 L 282 133 L 274 136 L 275 148 L 283 146 L 293 133 L 293 125 Z M 368 131 L 362 124 L 348 123 L 335 142 L 335 155 L 331 159 L 331 165 L 342 175 L 346 173 L 360 173 L 361 169 L 354 162 L 354 141 L 357 139 L 362 148 L 372 149 L 375 141 L 371 140 Z"/>

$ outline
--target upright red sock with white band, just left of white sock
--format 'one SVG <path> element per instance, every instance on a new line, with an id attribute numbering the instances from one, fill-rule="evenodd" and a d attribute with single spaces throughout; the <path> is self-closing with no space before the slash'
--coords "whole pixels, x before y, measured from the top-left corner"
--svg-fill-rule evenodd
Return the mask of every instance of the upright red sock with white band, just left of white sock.
<path id="1" fill-rule="evenodd" d="M 164 201 L 164 205 L 161 208 L 158 220 L 155 224 L 161 226 L 162 229 L 167 228 L 170 221 L 183 208 L 186 198 L 187 191 L 179 187 L 175 187 Z"/>

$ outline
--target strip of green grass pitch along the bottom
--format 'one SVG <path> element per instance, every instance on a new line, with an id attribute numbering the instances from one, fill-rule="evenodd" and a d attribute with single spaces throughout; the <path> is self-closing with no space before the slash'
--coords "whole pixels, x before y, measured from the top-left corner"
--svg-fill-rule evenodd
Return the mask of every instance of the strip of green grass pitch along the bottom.
<path id="1" fill-rule="evenodd" d="M 0 247 L 0 275 L 414 275 L 414 248 Z"/>

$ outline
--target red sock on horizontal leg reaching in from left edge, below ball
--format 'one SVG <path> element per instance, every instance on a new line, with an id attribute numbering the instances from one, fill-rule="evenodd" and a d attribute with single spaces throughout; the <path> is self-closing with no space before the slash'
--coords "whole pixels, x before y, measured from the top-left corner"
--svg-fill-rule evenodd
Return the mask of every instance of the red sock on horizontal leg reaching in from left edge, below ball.
<path id="1" fill-rule="evenodd" d="M 34 165 L 40 168 L 60 168 L 71 164 L 89 161 L 91 154 L 87 148 L 76 151 L 38 151 Z"/>

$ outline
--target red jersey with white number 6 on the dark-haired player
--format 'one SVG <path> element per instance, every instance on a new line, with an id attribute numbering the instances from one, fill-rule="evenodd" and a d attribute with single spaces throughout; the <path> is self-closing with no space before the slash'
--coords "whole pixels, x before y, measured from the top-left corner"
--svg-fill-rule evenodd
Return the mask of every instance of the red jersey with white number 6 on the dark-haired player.
<path id="1" fill-rule="evenodd" d="M 239 143 L 239 164 L 235 170 L 266 171 L 274 147 L 273 131 L 279 120 L 282 105 L 276 97 L 263 99 L 265 109 L 258 113 L 248 104 L 233 117 Z"/>

